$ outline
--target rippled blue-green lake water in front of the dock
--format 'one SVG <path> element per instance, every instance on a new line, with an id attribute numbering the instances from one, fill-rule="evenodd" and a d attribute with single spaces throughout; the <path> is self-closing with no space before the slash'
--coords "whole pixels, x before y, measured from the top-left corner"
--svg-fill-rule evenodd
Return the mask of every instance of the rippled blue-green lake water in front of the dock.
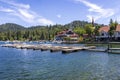
<path id="1" fill-rule="evenodd" d="M 120 55 L 0 47 L 0 80 L 120 80 Z"/>

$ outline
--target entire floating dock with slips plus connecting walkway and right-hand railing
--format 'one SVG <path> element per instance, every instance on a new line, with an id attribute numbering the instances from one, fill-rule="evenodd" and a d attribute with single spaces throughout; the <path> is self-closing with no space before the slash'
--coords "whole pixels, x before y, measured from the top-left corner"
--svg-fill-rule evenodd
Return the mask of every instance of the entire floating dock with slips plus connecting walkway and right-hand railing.
<path id="1" fill-rule="evenodd" d="M 111 44 L 111 43 L 110 43 Z M 58 46 L 52 44 L 4 44 L 2 47 L 16 48 L 16 49 L 32 49 L 32 50 L 41 50 L 50 52 L 58 52 L 62 53 L 72 53 L 78 51 L 93 51 L 93 52 L 106 52 L 106 53 L 120 53 L 120 48 L 112 48 L 108 45 L 108 48 L 98 49 L 96 46 Z M 118 52 L 116 52 L 118 51 Z"/>

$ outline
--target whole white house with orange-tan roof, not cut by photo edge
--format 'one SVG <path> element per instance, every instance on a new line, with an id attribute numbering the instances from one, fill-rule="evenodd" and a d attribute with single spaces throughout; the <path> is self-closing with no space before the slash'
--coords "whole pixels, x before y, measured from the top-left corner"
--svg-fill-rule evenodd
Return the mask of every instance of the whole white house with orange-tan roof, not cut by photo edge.
<path id="1" fill-rule="evenodd" d="M 96 36 L 97 40 L 108 40 L 109 39 L 109 26 L 103 26 L 101 27 L 98 31 L 99 31 L 99 36 Z"/>

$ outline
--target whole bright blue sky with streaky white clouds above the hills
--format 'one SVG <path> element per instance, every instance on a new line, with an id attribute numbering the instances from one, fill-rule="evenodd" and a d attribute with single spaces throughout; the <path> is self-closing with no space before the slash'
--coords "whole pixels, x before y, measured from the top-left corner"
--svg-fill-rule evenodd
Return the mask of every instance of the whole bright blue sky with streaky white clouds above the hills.
<path id="1" fill-rule="evenodd" d="M 120 22 L 120 0 L 0 0 L 0 24 L 67 24 L 74 20 Z"/>

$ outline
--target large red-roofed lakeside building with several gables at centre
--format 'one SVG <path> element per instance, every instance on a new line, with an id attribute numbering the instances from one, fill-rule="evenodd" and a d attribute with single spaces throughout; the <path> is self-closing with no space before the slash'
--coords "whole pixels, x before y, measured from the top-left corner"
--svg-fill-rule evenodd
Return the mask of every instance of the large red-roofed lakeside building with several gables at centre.
<path id="1" fill-rule="evenodd" d="M 78 41 L 78 38 L 78 34 L 69 29 L 59 32 L 55 36 L 55 41 Z"/>

